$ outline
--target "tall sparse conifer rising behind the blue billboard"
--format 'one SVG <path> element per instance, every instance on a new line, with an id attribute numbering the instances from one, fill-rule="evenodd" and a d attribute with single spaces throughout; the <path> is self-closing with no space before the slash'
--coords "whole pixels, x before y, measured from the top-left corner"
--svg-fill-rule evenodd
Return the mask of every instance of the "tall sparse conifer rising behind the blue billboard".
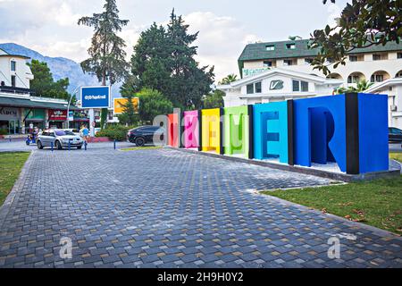
<path id="1" fill-rule="evenodd" d="M 95 74 L 97 80 L 111 85 L 124 78 L 128 69 L 125 61 L 124 40 L 117 36 L 128 20 L 119 18 L 115 0 L 106 0 L 103 13 L 94 13 L 92 17 L 82 17 L 79 25 L 94 29 L 91 46 L 88 48 L 89 58 L 81 63 L 82 71 Z M 102 109 L 101 127 L 105 126 L 107 108 Z"/>

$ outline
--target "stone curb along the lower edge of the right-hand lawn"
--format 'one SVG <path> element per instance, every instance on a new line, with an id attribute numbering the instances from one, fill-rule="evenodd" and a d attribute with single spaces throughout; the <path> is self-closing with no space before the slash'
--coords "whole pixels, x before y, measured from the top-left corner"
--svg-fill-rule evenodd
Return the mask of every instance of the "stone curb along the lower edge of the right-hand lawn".
<path id="1" fill-rule="evenodd" d="M 262 190 L 262 191 L 264 191 L 264 190 Z M 390 231 L 381 230 L 381 229 L 379 229 L 379 228 L 377 228 L 375 226 L 372 226 L 372 225 L 349 221 L 348 219 L 346 219 L 344 217 L 341 217 L 339 215 L 336 215 L 336 214 L 322 213 L 322 212 L 320 212 L 319 210 L 317 210 L 315 208 L 312 208 L 312 207 L 309 207 L 309 206 L 299 205 L 297 203 L 290 202 L 289 200 L 286 200 L 286 199 L 283 199 L 283 198 L 278 198 L 278 197 L 273 197 L 271 195 L 262 194 L 261 192 L 258 192 L 258 195 L 266 196 L 266 198 L 272 199 L 272 200 L 274 200 L 274 201 L 276 201 L 278 203 L 281 203 L 283 205 L 295 206 L 298 209 L 300 209 L 301 211 L 307 211 L 307 212 L 311 212 L 311 213 L 314 213 L 314 214 L 320 214 L 320 215 L 328 216 L 328 217 L 330 217 L 332 219 L 338 220 L 338 221 L 340 221 L 342 223 L 349 223 L 349 224 L 351 224 L 353 226 L 357 226 L 357 227 L 359 227 L 361 229 L 364 229 L 366 231 L 372 231 L 374 234 L 376 234 L 378 236 L 381 236 L 381 237 L 392 237 L 393 239 L 402 240 L 401 236 L 398 236 L 397 234 L 395 234 L 393 232 L 390 232 Z"/>

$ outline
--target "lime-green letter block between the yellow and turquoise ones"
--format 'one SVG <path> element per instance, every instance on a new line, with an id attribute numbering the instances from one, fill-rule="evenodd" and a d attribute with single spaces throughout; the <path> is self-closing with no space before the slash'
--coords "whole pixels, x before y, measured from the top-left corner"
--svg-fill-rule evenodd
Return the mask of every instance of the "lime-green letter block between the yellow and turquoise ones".
<path id="1" fill-rule="evenodd" d="M 252 108 L 252 105 L 250 105 Z M 226 107 L 223 115 L 224 154 L 250 157 L 248 105 Z"/>

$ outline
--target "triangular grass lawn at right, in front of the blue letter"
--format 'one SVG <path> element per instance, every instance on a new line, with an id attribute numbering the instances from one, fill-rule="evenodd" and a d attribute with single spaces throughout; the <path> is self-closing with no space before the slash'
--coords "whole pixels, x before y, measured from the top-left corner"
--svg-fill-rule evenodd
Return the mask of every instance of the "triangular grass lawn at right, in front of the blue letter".
<path id="1" fill-rule="evenodd" d="M 402 176 L 263 193 L 402 235 Z"/>

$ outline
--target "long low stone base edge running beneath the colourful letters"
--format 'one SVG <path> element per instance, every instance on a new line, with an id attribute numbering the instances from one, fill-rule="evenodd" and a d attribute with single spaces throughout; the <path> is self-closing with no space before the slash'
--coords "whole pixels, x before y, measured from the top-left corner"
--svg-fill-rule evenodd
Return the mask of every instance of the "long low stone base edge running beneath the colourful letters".
<path id="1" fill-rule="evenodd" d="M 399 170 L 389 170 L 389 171 L 383 171 L 383 172 L 367 172 L 367 173 L 363 173 L 363 174 L 359 174 L 359 175 L 350 175 L 350 174 L 346 174 L 346 173 L 330 172 L 330 171 L 318 170 L 318 169 L 313 169 L 313 168 L 305 168 L 305 167 L 301 167 L 301 166 L 291 166 L 288 164 L 275 164 L 275 163 L 267 162 L 267 161 L 256 161 L 256 160 L 246 159 L 246 158 L 241 158 L 241 157 L 236 157 L 236 156 L 224 156 L 224 155 L 222 156 L 219 154 L 190 150 L 190 149 L 185 149 L 185 148 L 170 147 L 170 146 L 166 146 L 166 148 L 171 148 L 173 150 L 178 150 L 178 151 L 182 151 L 182 152 L 188 152 L 191 154 L 210 156 L 210 157 L 219 158 L 219 159 L 223 159 L 223 160 L 229 160 L 229 161 L 233 161 L 233 162 L 256 164 L 256 165 L 263 166 L 263 167 L 269 167 L 272 169 L 279 169 L 279 170 L 289 171 L 289 172 L 299 172 L 299 173 L 304 173 L 307 175 L 313 175 L 313 176 L 322 177 L 325 179 L 336 180 L 336 181 L 346 181 L 346 182 L 369 181 L 369 180 L 375 180 L 375 179 L 380 179 L 380 178 L 397 177 L 400 175 Z"/>

